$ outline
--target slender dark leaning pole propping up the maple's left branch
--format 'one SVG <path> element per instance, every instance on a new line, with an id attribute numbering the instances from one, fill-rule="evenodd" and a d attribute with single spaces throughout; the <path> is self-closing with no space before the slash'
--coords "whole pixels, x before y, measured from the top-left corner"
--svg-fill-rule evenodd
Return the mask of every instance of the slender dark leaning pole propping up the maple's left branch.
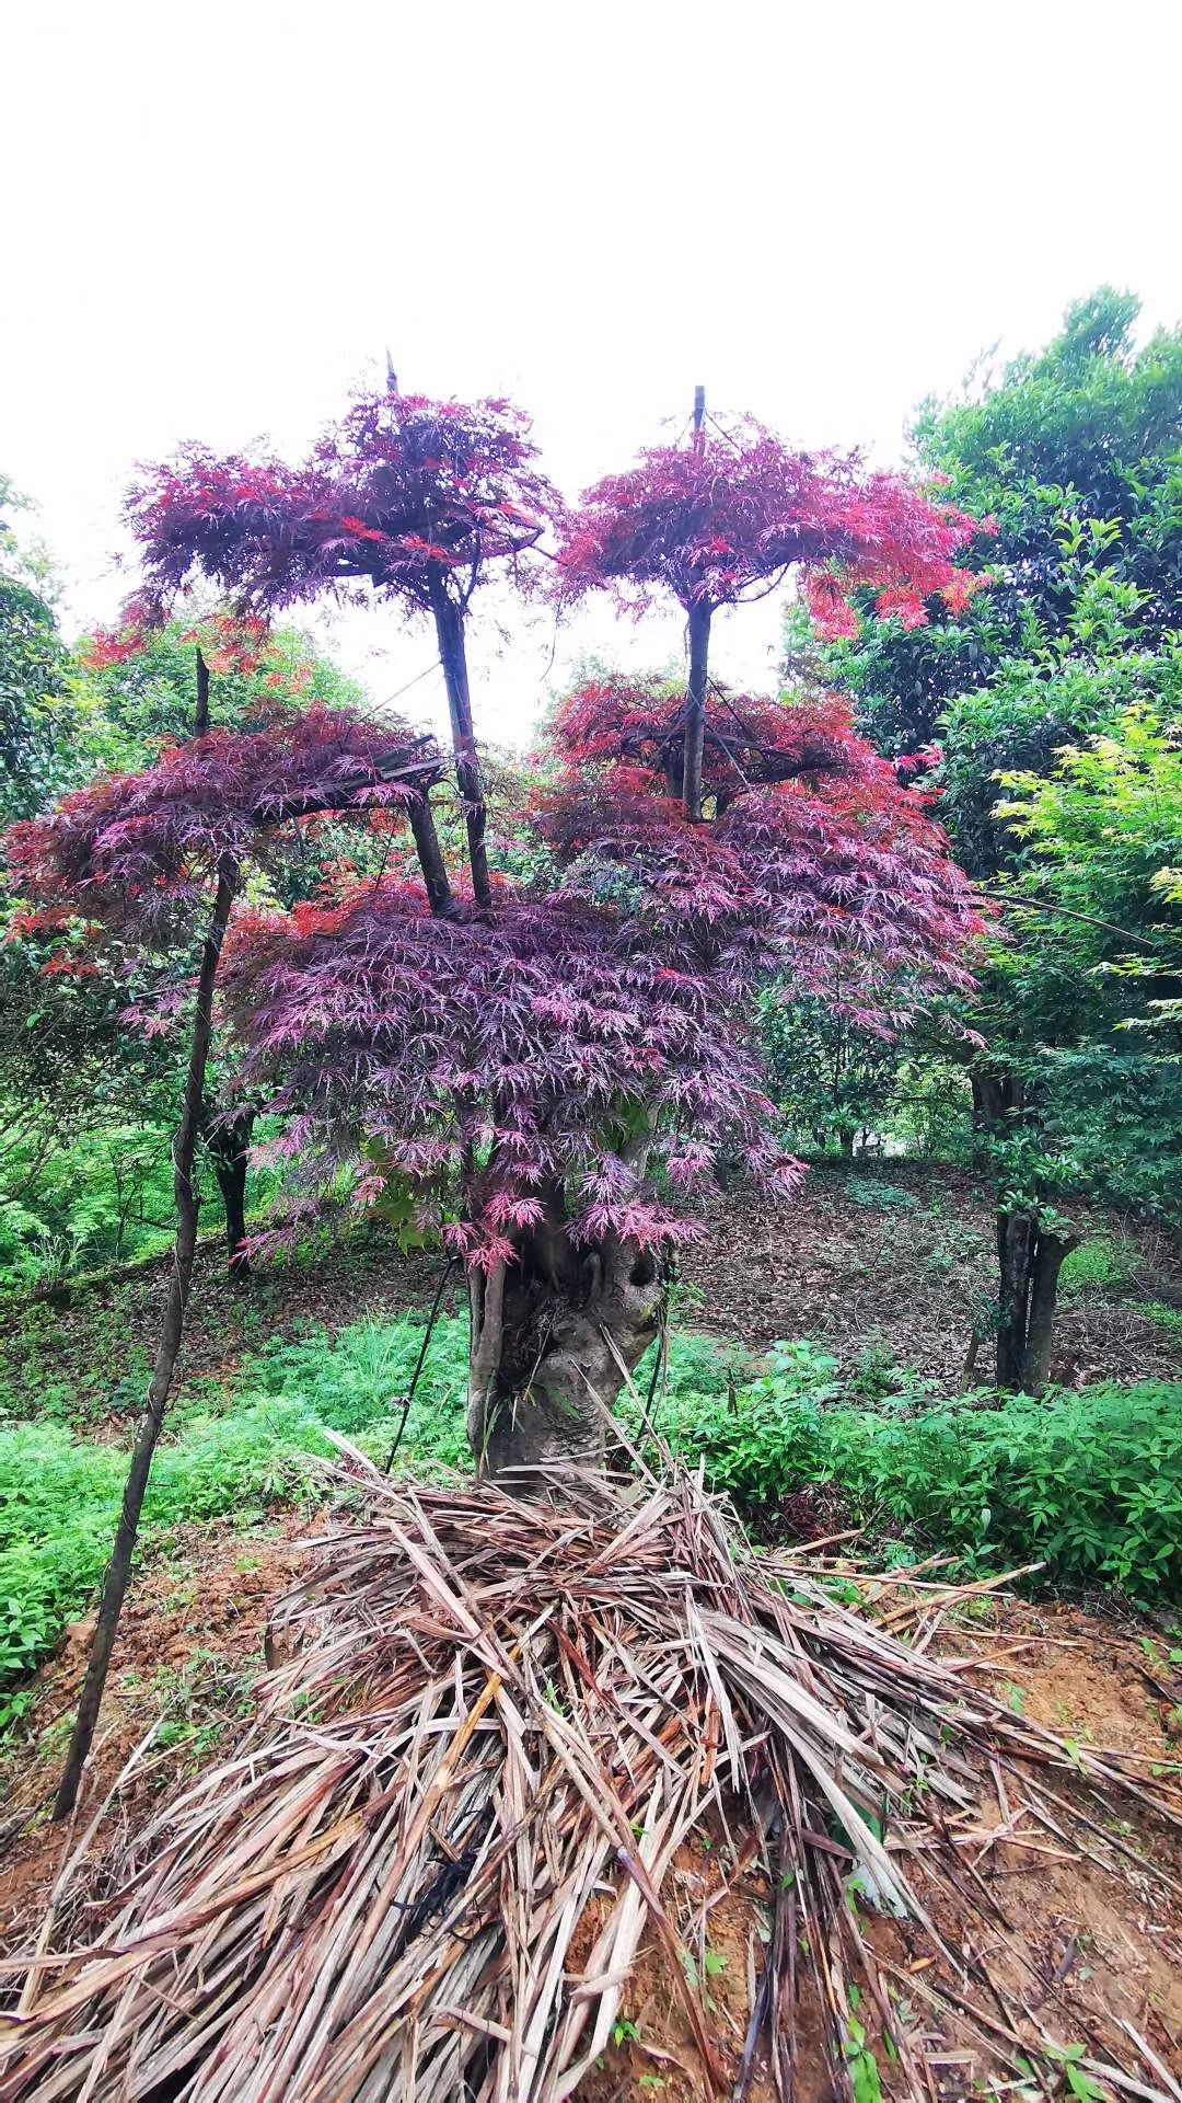
<path id="1" fill-rule="evenodd" d="M 74 1804 L 78 1800 L 78 1783 L 82 1781 L 82 1769 L 86 1764 L 86 1754 L 90 1752 L 95 1727 L 99 1722 L 99 1708 L 103 1701 L 103 1689 L 107 1685 L 107 1668 L 111 1663 L 111 1651 L 116 1645 L 116 1632 L 120 1626 L 120 1613 L 130 1577 L 135 1541 L 139 1535 L 139 1514 L 143 1510 L 143 1493 L 147 1489 L 147 1476 L 151 1470 L 151 1455 L 156 1451 L 156 1441 L 160 1438 L 160 1428 L 164 1424 L 164 1407 L 168 1401 L 168 1390 L 172 1386 L 177 1352 L 181 1350 L 181 1335 L 185 1329 L 185 1304 L 189 1300 L 189 1283 L 193 1277 L 193 1249 L 198 1243 L 198 1195 L 193 1190 L 193 1155 L 198 1146 L 198 1134 L 202 1129 L 206 1066 L 208 1066 L 210 1035 L 212 1035 L 212 988 L 217 980 L 217 967 L 221 961 L 221 944 L 225 940 L 225 930 L 229 923 L 229 911 L 238 894 L 238 883 L 240 883 L 238 866 L 231 862 L 223 862 L 219 869 L 217 896 L 206 930 L 206 940 L 202 946 L 202 965 L 198 974 L 198 1005 L 193 1016 L 193 1039 L 189 1045 L 189 1073 L 185 1079 L 181 1123 L 172 1140 L 172 1199 L 177 1205 L 177 1241 L 172 1245 L 172 1274 L 168 1279 L 168 1298 L 164 1302 L 160 1344 L 156 1346 L 156 1365 L 151 1369 L 151 1384 L 147 1388 L 147 1409 L 143 1413 L 135 1438 L 111 1560 L 107 1565 L 107 1575 L 103 1579 L 103 1598 L 99 1605 L 99 1621 L 95 1628 L 95 1640 L 90 1645 L 90 1657 L 86 1663 L 86 1680 L 82 1685 L 82 1697 L 78 1701 L 78 1716 L 74 1718 L 74 1735 L 69 1739 L 65 1771 L 61 1775 L 61 1783 L 53 1804 L 55 1819 L 63 1819 L 74 1811 Z"/>

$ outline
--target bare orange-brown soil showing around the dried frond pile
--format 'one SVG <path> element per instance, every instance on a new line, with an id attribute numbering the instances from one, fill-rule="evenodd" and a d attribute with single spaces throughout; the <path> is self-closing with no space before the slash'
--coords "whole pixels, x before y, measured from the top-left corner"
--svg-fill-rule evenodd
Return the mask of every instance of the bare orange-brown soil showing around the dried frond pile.
<path id="1" fill-rule="evenodd" d="M 301 1550 L 292 1527 L 257 1537 L 229 1525 L 193 1529 L 166 1567 L 135 1586 L 118 1642 L 105 1731 L 72 1834 L 53 1828 L 48 1802 L 61 1767 L 65 1729 L 82 1674 L 88 1626 L 76 1628 L 42 1672 L 42 1706 L 34 1745 L 8 1764 L 4 1859 L 0 1870 L 0 1954 L 29 1945 L 63 1859 L 107 1796 L 133 1745 L 154 1714 L 166 1714 L 172 1743 L 149 1758 L 107 1813 L 114 1840 L 124 1821 L 137 1823 L 160 1792 L 175 1790 L 200 1760 L 225 1754 L 238 1720 L 250 1712 L 252 1680 L 263 1672 L 263 1630 L 278 1594 L 292 1581 Z M 1155 1773 L 1178 1773 L 1182 1756 L 1182 1685 L 1167 1661 L 1169 1636 L 1155 1624 L 1117 1611 L 1083 1613 L 1068 1605 L 1005 1600 L 938 1636 L 944 1659 L 957 1661 L 965 1687 L 989 1685 L 1020 1714 L 1045 1722 L 1094 1750 L 1119 1750 Z M 1039 1777 L 1045 1788 L 1045 1777 Z M 1140 2092 L 1161 2092 L 1153 2057 L 1182 2078 L 1182 1834 L 1129 1796 L 1113 1821 L 1075 1781 L 1054 1779 L 1058 1832 L 1024 1809 L 1022 1777 L 982 1777 L 980 1832 L 965 1849 L 965 1876 L 984 1895 L 965 1920 L 938 1912 L 949 1949 L 967 1966 L 967 1983 L 932 1958 L 902 1922 L 875 1920 L 873 1945 L 892 1992 L 896 2021 L 925 2067 L 928 2095 L 938 2103 L 980 2092 L 995 2069 L 991 2042 L 1081 2046 L 1110 2063 Z M 1043 1798 L 1045 1802 L 1045 1798 Z M 1081 1815 L 1092 1817 L 1085 1828 Z M 711 2025 L 711 2050 L 728 2082 L 742 2063 L 751 2010 L 763 1973 L 770 1888 L 734 1828 L 713 1828 L 681 1851 L 665 1886 L 667 1918 L 679 1943 L 702 1956 L 700 1983 Z M 980 1842 L 980 1844 L 978 1844 Z M 1121 1853 L 1123 1851 L 1123 1853 Z M 99 1840 L 99 1861 L 103 1842 Z M 923 1895 L 923 1874 L 917 1874 Z M 972 1926 L 965 1922 L 972 1920 Z M 587 1945 L 593 1922 L 587 1924 Z M 974 1958 L 989 1958 L 1003 2000 L 972 1983 Z M 934 1994 L 942 1983 L 963 1994 L 957 2017 Z M 898 2069 L 883 2050 L 873 2004 L 860 2010 L 864 2050 L 873 2055 L 881 2092 L 892 2095 Z M 1129 2027 L 1125 2027 L 1129 2025 Z M 1134 2042 L 1134 2034 L 1140 2042 Z M 1018 2048 L 1018 2046 L 1014 2046 Z M 862 2067 L 862 2082 L 871 2076 Z M 618 2038 L 585 2080 L 587 2103 L 658 2099 L 690 2103 L 709 2095 L 700 2050 L 669 1958 L 650 1931 L 629 1987 Z M 713 2090 L 719 2092 L 719 2090 Z M 829 2103 L 833 2069 L 820 2048 L 816 2008 L 801 2008 L 795 2061 L 799 2103 Z M 896 2095 L 906 2092 L 894 2086 Z M 1102 2095 L 1127 2095 L 1100 2084 Z M 772 2097 L 768 2048 L 751 2059 L 747 2095 Z M 864 2095 L 877 2095 L 873 2086 Z"/>

